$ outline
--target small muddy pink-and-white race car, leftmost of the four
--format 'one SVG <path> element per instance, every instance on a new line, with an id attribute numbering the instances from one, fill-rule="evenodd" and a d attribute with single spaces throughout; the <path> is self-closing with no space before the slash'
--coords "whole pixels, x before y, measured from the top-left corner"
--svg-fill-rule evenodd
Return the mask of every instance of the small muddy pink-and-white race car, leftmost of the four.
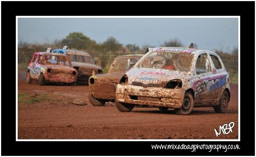
<path id="1" fill-rule="evenodd" d="M 45 82 L 71 83 L 77 81 L 77 70 L 72 68 L 70 57 L 64 54 L 37 52 L 33 54 L 26 71 L 26 83 L 32 80 L 39 81 L 39 85 Z"/>

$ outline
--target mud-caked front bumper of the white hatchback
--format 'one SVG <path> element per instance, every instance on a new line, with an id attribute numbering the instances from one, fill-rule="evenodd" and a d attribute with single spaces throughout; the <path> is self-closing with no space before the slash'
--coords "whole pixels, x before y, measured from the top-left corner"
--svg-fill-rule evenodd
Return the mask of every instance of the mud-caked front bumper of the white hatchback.
<path id="1" fill-rule="evenodd" d="M 184 89 L 143 88 L 118 84 L 115 97 L 121 103 L 181 108 L 184 94 Z"/>

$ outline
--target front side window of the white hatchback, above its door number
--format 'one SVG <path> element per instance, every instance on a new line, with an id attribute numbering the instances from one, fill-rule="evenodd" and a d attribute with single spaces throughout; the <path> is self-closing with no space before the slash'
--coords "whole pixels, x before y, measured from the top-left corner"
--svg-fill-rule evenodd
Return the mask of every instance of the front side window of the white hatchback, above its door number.
<path id="1" fill-rule="evenodd" d="M 207 54 L 200 54 L 200 56 L 198 56 L 198 58 L 196 59 L 196 74 L 204 74 L 210 71 L 211 68 L 209 60 L 207 58 Z"/>

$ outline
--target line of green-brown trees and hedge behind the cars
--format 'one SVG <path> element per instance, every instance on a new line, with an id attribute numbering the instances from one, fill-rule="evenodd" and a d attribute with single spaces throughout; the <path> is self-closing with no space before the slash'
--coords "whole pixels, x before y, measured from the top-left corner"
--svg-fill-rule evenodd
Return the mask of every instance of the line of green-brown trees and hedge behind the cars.
<path id="1" fill-rule="evenodd" d="M 55 40 L 52 43 L 27 43 L 22 40 L 18 43 L 18 64 L 29 63 L 32 54 L 39 51 L 46 51 L 48 47 L 52 49 L 61 49 L 67 45 L 70 49 L 82 50 L 89 53 L 95 63 L 106 70 L 110 67 L 114 58 L 125 54 L 144 54 L 148 47 L 184 47 L 184 45 L 177 39 L 171 39 L 160 45 L 143 45 L 139 47 L 136 44 L 123 45 L 114 37 L 107 38 L 103 43 L 97 43 L 88 36 L 80 32 L 72 32 L 64 39 Z M 238 49 L 235 48 L 231 52 L 223 50 L 214 50 L 222 59 L 225 68 L 231 76 L 238 77 Z M 106 71 L 105 70 L 105 71 Z"/>

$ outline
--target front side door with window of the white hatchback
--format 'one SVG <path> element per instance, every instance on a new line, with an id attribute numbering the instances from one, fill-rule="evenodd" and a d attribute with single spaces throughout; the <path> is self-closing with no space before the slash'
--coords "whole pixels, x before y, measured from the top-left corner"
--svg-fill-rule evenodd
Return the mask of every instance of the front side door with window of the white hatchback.
<path id="1" fill-rule="evenodd" d="M 208 53 L 201 53 L 196 57 L 195 62 L 195 106 L 210 106 L 214 96 L 209 93 L 209 88 L 213 84 L 213 75 L 210 57 Z"/>

